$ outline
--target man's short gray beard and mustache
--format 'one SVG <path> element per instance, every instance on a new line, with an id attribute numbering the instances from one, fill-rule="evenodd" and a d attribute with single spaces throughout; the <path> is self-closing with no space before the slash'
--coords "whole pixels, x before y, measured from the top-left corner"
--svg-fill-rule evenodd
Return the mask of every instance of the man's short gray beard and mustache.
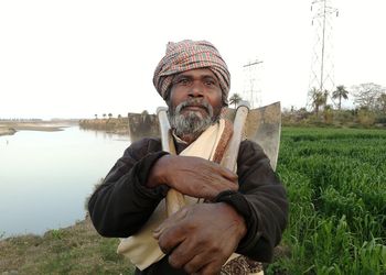
<path id="1" fill-rule="evenodd" d="M 203 114 L 195 111 L 187 111 L 185 114 L 182 114 L 181 110 L 189 106 L 204 107 L 208 114 Z M 195 140 L 208 127 L 218 121 L 219 116 L 213 116 L 213 108 L 210 103 L 203 100 L 193 99 L 180 103 L 175 110 L 170 108 L 168 117 L 171 128 L 179 138 L 190 135 L 193 138 L 193 140 Z"/>

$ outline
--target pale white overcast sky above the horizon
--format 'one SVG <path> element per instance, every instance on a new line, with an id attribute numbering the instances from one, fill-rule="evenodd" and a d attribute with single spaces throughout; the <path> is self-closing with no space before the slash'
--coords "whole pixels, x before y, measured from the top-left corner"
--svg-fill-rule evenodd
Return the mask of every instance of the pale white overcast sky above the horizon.
<path id="1" fill-rule="evenodd" d="M 0 0 L 0 119 L 154 113 L 152 85 L 169 41 L 207 40 L 228 65 L 230 95 L 253 72 L 258 105 L 304 107 L 315 30 L 312 0 Z M 336 85 L 386 86 L 386 1 L 331 0 Z M 315 7 L 315 6 L 314 6 Z M 256 103 L 257 105 L 257 103 Z"/>

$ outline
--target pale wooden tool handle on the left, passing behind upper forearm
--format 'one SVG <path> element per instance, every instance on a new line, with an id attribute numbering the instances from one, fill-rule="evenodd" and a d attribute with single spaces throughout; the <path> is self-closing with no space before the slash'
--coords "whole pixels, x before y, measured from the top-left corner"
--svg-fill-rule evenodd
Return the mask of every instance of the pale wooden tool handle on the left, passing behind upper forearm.
<path id="1" fill-rule="evenodd" d="M 173 139 L 170 134 L 170 123 L 167 114 L 168 108 L 159 107 L 157 109 L 157 117 L 160 122 L 160 132 L 161 132 L 161 142 L 162 150 L 169 152 L 172 155 L 175 155 L 175 147 Z M 181 193 L 175 189 L 170 189 L 167 195 L 167 213 L 168 217 L 179 211 L 186 205 L 185 198 Z"/>

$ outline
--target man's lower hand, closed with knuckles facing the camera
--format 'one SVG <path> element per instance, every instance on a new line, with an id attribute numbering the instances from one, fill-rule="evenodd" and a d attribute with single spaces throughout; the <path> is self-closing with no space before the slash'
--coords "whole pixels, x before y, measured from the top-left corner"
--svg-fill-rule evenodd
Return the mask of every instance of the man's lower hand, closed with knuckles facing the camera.
<path id="1" fill-rule="evenodd" d="M 217 274 L 245 234 L 244 218 L 225 202 L 187 206 L 153 232 L 170 265 L 189 274 Z"/>

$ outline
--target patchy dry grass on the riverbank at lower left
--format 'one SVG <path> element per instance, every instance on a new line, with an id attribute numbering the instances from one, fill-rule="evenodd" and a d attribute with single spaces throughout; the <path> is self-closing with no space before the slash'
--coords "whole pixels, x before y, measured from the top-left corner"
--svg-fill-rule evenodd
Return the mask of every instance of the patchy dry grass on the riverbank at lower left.
<path id="1" fill-rule="evenodd" d="M 0 242 L 0 274 L 133 274 L 132 265 L 116 253 L 118 239 L 99 237 L 88 219 Z"/>

